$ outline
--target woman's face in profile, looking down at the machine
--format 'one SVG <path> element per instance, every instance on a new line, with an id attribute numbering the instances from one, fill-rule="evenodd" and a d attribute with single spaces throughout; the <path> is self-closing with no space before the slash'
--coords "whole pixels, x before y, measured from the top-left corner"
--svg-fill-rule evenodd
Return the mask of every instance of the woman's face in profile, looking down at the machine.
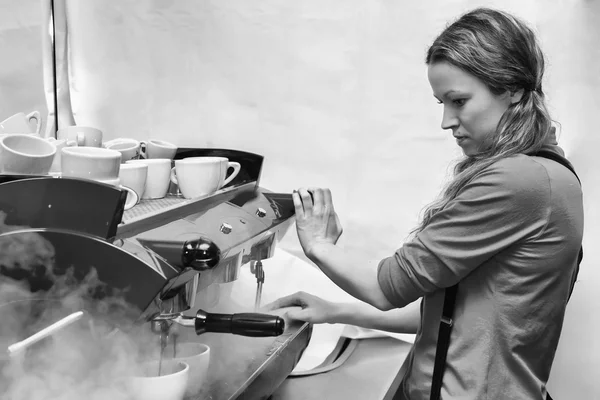
<path id="1" fill-rule="evenodd" d="M 517 95 L 495 95 L 478 78 L 446 62 L 430 64 L 427 77 L 434 97 L 444 105 L 442 129 L 452 129 L 465 155 L 479 153 Z"/>

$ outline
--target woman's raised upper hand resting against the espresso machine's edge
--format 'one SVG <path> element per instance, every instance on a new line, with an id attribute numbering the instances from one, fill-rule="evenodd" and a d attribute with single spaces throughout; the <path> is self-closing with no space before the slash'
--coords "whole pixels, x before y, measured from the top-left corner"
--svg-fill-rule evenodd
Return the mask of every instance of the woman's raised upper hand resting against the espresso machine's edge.
<path id="1" fill-rule="evenodd" d="M 333 208 L 329 189 L 298 189 L 292 194 L 296 209 L 296 230 L 304 253 L 310 258 L 318 244 L 336 244 L 342 225 Z"/>

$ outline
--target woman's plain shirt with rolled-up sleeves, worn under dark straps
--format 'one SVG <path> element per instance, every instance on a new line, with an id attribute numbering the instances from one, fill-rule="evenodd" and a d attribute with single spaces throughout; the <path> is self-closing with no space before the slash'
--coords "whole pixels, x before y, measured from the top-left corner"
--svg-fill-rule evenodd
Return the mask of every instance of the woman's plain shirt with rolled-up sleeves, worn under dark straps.
<path id="1" fill-rule="evenodd" d="M 547 145 L 563 155 L 556 145 Z M 401 385 L 429 399 L 444 289 L 458 283 L 441 398 L 545 398 L 583 236 L 579 182 L 559 163 L 516 155 L 468 183 L 379 264 L 397 307 L 423 297 Z"/>

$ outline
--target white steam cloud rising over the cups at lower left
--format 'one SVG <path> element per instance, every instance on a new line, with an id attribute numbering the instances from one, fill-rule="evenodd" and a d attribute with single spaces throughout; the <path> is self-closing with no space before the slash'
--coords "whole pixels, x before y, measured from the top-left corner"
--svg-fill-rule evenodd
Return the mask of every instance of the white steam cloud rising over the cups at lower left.
<path id="1" fill-rule="evenodd" d="M 0 233 L 7 226 L 0 212 Z M 0 399 L 129 400 L 127 377 L 156 354 L 158 337 L 128 320 L 123 293 L 96 270 L 83 279 L 55 265 L 52 243 L 35 232 L 0 237 Z M 85 316 L 12 357 L 7 347 L 79 310 Z"/>

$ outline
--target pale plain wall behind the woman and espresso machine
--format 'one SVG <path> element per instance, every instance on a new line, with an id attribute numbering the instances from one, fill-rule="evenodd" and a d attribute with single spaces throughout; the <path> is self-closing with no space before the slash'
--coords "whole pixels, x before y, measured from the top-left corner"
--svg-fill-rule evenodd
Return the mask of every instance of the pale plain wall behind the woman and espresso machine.
<path id="1" fill-rule="evenodd" d="M 16 4 L 36 1 L 0 0 L 0 10 L 10 10 L 8 3 L 23 18 Z M 550 61 L 549 101 L 585 185 L 587 217 L 585 261 L 550 389 L 557 399 L 600 398 L 597 1 L 67 3 L 79 124 L 96 125 L 107 138 L 158 137 L 263 154 L 263 186 L 330 187 L 345 227 L 342 244 L 373 258 L 401 245 L 459 154 L 439 128 L 441 109 L 423 63 L 427 46 L 449 19 L 476 5 L 529 20 Z M 28 15 L 35 26 L 35 14 Z M 31 42 L 28 28 L 15 34 L 11 18 L 0 21 L 1 51 Z M 32 60 L 13 57 L 8 69 L 0 63 L 0 118 L 43 98 Z M 5 88 L 15 76 L 31 82 L 26 90 Z M 286 239 L 297 249 L 292 235 Z"/>

